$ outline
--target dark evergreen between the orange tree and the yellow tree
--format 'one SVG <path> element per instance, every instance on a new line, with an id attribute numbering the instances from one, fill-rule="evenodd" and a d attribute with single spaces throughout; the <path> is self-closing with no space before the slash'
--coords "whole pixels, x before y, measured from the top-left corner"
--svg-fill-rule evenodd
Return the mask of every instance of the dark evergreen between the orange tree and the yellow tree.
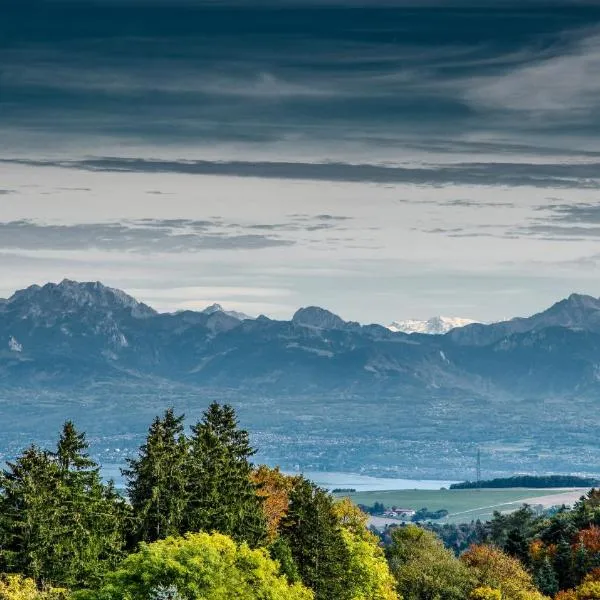
<path id="1" fill-rule="evenodd" d="M 304 478 L 290 493 L 290 506 L 281 521 L 302 581 L 314 590 L 315 600 L 345 600 L 349 588 L 350 555 L 333 500 L 324 490 Z"/>

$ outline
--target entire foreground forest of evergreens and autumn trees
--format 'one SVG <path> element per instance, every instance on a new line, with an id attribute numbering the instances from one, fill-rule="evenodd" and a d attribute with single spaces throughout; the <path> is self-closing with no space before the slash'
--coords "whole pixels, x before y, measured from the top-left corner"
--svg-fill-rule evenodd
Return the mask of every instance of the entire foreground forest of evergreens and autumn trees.
<path id="1" fill-rule="evenodd" d="M 65 423 L 0 474 L 0 600 L 600 599 L 599 491 L 552 515 L 378 536 L 348 499 L 254 454 L 230 406 L 189 431 L 169 409 L 121 494 Z"/>

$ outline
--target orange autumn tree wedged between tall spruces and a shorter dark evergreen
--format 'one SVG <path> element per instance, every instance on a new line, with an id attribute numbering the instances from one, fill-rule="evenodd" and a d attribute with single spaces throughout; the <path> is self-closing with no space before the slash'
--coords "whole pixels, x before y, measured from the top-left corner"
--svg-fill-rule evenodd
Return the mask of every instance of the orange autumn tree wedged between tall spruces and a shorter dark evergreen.
<path id="1" fill-rule="evenodd" d="M 262 507 L 267 518 L 267 537 L 272 542 L 279 530 L 279 523 L 287 513 L 289 495 L 298 477 L 285 475 L 279 467 L 271 469 L 260 465 L 252 472 L 252 481 L 258 485 L 258 495 L 264 498 Z"/>

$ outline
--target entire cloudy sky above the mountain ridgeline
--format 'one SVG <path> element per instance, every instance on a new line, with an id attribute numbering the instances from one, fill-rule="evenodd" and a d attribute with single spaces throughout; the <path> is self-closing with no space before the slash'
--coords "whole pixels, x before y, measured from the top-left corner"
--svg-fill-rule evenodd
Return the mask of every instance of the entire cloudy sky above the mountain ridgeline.
<path id="1" fill-rule="evenodd" d="M 0 10 L 0 297 L 385 324 L 600 295 L 597 3 Z"/>

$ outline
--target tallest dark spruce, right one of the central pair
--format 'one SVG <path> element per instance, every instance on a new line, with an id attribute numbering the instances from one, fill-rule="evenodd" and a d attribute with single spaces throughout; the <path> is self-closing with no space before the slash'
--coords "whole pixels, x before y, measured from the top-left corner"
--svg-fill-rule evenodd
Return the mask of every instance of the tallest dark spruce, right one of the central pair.
<path id="1" fill-rule="evenodd" d="M 192 427 L 187 531 L 218 531 L 250 546 L 265 540 L 262 498 L 251 480 L 254 453 L 234 409 L 212 403 Z"/>

